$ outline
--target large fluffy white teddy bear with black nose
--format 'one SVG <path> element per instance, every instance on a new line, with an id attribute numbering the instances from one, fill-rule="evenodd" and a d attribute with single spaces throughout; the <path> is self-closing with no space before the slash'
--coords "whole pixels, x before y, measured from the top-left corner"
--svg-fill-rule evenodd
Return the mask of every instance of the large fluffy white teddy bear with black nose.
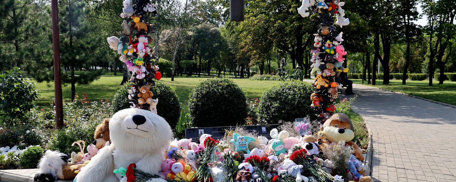
<path id="1" fill-rule="evenodd" d="M 114 169 L 136 168 L 150 174 L 160 174 L 163 151 L 171 140 L 171 128 L 165 119 L 143 109 L 124 109 L 109 120 L 111 145 L 92 157 L 76 177 L 77 182 L 119 182 Z M 153 178 L 148 182 L 166 182 Z"/>

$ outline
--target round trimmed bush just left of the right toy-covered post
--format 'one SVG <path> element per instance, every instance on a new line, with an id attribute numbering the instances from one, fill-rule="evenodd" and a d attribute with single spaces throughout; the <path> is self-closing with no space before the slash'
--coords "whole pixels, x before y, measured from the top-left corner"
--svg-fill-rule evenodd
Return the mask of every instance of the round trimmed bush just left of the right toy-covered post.
<path id="1" fill-rule="evenodd" d="M 310 105 L 311 94 L 315 91 L 310 82 L 281 82 L 263 93 L 258 106 L 258 120 L 261 124 L 278 124 L 279 121 L 295 121 L 295 118 L 310 116 L 317 120 Z"/>

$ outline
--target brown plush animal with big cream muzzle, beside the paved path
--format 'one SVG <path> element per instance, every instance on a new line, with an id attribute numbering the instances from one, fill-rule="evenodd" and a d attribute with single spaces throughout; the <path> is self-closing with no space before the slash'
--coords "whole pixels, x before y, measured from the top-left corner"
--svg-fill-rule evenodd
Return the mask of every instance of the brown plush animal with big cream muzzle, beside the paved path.
<path id="1" fill-rule="evenodd" d="M 325 123 L 321 126 L 321 130 L 325 133 L 326 140 L 329 142 L 339 142 L 344 140 L 346 145 L 353 146 L 354 154 L 360 161 L 364 161 L 363 152 L 361 148 L 352 142 L 355 137 L 353 130 L 352 120 L 348 118 L 346 114 L 336 113 L 333 114 Z"/>

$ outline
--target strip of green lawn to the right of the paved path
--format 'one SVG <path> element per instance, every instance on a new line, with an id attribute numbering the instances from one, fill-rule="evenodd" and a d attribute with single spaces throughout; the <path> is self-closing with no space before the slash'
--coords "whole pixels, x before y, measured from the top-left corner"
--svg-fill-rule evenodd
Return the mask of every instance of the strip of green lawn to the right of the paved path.
<path id="1" fill-rule="evenodd" d="M 353 83 L 362 84 L 361 79 L 351 79 Z M 389 85 L 383 85 L 383 80 L 376 80 L 376 85 L 367 84 L 369 86 L 384 88 L 405 94 L 411 94 L 418 97 L 431 99 L 446 104 L 456 105 L 456 82 L 444 81 L 443 85 L 439 85 L 438 81 L 433 82 L 433 86 L 429 86 L 429 80 L 412 81 L 407 80 L 406 85 L 402 84 L 402 80 L 389 80 Z"/>

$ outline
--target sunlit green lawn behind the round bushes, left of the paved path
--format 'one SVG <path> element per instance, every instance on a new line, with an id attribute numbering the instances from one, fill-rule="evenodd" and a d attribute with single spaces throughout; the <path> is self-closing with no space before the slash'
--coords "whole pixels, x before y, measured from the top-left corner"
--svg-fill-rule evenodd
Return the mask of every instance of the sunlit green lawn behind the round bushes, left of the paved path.
<path id="1" fill-rule="evenodd" d="M 120 88 L 120 81 L 122 80 L 121 74 L 119 76 L 102 76 L 100 79 L 93 81 L 89 85 L 76 85 L 76 92 L 79 96 L 85 92 L 88 94 L 89 100 L 98 100 L 101 98 L 112 99 L 114 97 L 115 91 Z M 171 78 L 161 78 L 161 81 L 170 85 L 176 90 L 177 96 L 182 104 L 187 105 L 188 94 L 192 89 L 200 83 L 200 80 L 204 80 L 207 76 L 193 76 L 193 77 L 176 77 L 174 81 L 171 82 Z M 235 78 L 234 81 L 239 84 L 239 86 L 244 90 L 246 97 L 249 99 L 259 98 L 263 94 L 264 90 L 270 88 L 274 83 L 279 81 L 258 81 L 258 80 L 249 80 L 249 78 Z M 52 84 L 52 83 L 51 83 Z M 46 109 L 51 102 L 52 97 L 54 97 L 54 85 L 48 83 L 36 83 L 36 89 L 41 94 L 41 97 L 36 100 L 36 105 L 42 109 Z M 62 87 L 63 98 L 65 101 L 70 101 L 71 99 L 71 85 Z"/>

